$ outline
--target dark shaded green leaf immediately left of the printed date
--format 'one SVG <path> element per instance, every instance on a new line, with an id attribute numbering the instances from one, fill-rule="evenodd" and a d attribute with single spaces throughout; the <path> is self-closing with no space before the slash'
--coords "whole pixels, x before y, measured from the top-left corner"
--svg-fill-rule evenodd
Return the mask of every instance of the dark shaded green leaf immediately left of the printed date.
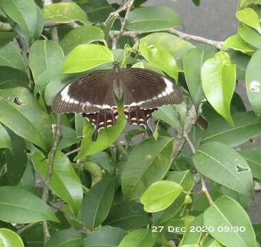
<path id="1" fill-rule="evenodd" d="M 144 212 L 141 204 L 123 200 L 123 202 L 117 203 L 111 207 L 110 213 L 108 217 L 106 217 L 104 224 L 117 226 L 129 231 L 146 227 L 149 222 L 150 215 Z"/>

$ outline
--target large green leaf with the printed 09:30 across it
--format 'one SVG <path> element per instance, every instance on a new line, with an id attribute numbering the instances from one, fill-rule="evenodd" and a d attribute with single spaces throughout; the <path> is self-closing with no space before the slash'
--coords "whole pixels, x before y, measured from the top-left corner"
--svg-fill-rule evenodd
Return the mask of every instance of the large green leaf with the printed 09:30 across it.
<path id="1" fill-rule="evenodd" d="M 228 247 L 256 247 L 256 236 L 247 213 L 240 204 L 227 196 L 220 196 L 204 212 L 204 224 L 212 226 L 214 231 L 210 233 L 214 239 Z M 228 231 L 218 231 L 226 227 Z M 245 231 L 236 231 L 238 228 Z"/>

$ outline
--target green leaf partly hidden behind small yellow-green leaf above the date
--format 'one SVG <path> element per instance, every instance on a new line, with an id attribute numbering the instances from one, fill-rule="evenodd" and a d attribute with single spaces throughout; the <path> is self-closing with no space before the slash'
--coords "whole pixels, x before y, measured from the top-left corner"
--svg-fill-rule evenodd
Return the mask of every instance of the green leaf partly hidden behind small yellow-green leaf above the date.
<path id="1" fill-rule="evenodd" d="M 194 187 L 194 176 L 190 170 L 185 171 L 170 171 L 166 176 L 166 180 L 175 182 L 183 188 L 185 191 L 192 191 Z"/>

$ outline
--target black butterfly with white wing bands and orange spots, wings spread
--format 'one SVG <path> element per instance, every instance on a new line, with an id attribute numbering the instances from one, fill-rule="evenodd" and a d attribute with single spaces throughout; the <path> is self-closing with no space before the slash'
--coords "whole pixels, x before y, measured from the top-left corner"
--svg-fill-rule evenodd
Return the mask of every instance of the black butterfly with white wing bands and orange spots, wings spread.
<path id="1" fill-rule="evenodd" d="M 124 98 L 124 115 L 130 124 L 148 127 L 153 110 L 165 104 L 180 104 L 183 95 L 168 78 L 148 69 L 113 69 L 83 75 L 63 88 L 54 98 L 56 113 L 82 113 L 95 130 L 96 141 L 101 128 L 113 126 L 118 110 L 115 99 Z"/>

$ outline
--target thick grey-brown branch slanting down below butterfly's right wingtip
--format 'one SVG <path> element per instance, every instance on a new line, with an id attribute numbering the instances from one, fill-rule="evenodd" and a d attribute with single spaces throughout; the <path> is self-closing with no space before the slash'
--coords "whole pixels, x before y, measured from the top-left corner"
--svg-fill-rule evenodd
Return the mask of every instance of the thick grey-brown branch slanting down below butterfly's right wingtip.
<path id="1" fill-rule="evenodd" d="M 188 133 L 190 133 L 192 126 L 196 123 L 196 108 L 194 105 L 191 106 L 190 110 L 188 110 L 187 117 L 185 119 L 185 124 L 183 126 L 183 133 L 179 135 L 174 141 L 173 150 L 172 150 L 172 162 L 177 159 L 185 141 L 188 140 Z M 194 146 L 193 146 L 194 147 Z M 196 152 L 194 150 L 194 152 Z"/>

